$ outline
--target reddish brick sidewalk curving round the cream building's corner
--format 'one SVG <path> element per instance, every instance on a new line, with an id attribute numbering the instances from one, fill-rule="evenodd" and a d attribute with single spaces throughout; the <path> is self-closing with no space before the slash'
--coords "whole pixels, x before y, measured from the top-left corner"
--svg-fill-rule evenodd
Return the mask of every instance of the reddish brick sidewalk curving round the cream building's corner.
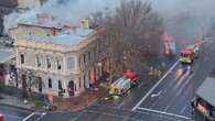
<path id="1" fill-rule="evenodd" d="M 106 92 L 103 87 L 95 88 L 95 90 L 86 90 L 78 97 L 62 99 L 54 97 L 54 105 L 57 107 L 58 111 L 79 111 L 86 107 L 95 103 L 100 97 Z"/>

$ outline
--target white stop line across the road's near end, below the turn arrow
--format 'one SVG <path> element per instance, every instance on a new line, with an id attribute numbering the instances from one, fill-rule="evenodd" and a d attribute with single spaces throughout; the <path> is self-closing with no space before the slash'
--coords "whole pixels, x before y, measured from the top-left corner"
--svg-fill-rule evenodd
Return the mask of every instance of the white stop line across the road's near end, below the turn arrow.
<path id="1" fill-rule="evenodd" d="M 184 116 L 169 113 L 169 112 L 159 111 L 159 110 L 152 110 L 152 109 L 140 108 L 140 107 L 138 107 L 138 109 L 146 110 L 146 111 L 151 111 L 151 112 L 155 112 L 155 113 L 161 113 L 161 114 L 168 114 L 168 116 L 172 116 L 172 117 L 176 117 L 176 118 L 182 118 L 182 119 L 186 119 L 186 120 L 190 120 L 191 119 L 191 118 L 187 118 L 187 117 L 184 117 Z"/>

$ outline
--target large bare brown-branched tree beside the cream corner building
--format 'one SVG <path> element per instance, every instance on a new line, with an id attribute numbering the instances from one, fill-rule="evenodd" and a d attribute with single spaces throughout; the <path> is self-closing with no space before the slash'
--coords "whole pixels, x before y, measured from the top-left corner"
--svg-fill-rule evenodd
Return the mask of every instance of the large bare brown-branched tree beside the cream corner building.
<path id="1" fill-rule="evenodd" d="M 122 1 L 114 15 L 106 15 L 98 29 L 100 48 L 116 72 L 147 68 L 143 61 L 158 56 L 163 34 L 162 20 L 150 3 L 141 0 Z M 108 45 L 108 47 L 104 47 Z"/>

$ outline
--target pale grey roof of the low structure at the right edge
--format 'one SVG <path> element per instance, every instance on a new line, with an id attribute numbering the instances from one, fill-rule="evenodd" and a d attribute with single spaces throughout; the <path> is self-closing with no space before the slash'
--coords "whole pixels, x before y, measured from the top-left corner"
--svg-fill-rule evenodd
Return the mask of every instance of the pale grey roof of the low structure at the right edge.
<path id="1" fill-rule="evenodd" d="M 201 87 L 197 89 L 196 95 L 211 103 L 212 106 L 215 106 L 215 78 L 206 78 L 205 81 L 201 85 Z"/>

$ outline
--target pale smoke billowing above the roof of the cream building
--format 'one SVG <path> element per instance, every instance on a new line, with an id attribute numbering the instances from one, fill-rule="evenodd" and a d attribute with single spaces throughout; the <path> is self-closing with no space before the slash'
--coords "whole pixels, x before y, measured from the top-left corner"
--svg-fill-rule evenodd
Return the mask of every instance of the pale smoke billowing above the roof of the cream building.
<path id="1" fill-rule="evenodd" d="M 119 0 L 49 0 L 43 7 L 35 7 L 26 12 L 13 12 L 4 16 L 4 32 L 15 28 L 18 23 L 36 23 L 36 14 L 52 16 L 52 23 L 77 24 L 84 16 L 95 12 L 107 12 L 119 4 Z"/>

